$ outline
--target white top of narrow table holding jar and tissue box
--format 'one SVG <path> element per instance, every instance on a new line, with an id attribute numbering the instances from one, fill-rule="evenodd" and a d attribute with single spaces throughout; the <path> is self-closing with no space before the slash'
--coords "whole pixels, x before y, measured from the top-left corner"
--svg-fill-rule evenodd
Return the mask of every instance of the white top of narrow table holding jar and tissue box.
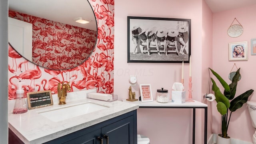
<path id="1" fill-rule="evenodd" d="M 130 102 L 125 99 L 122 100 L 123 102 Z M 141 102 L 141 101 L 135 101 L 135 102 L 130 102 L 133 104 L 138 104 L 140 108 L 143 107 L 207 107 L 207 104 L 204 104 L 202 102 L 198 102 L 196 100 L 193 100 L 194 102 L 184 102 L 182 104 L 180 103 L 175 103 L 170 100 L 167 103 L 160 103 L 154 100 L 153 102 Z"/>

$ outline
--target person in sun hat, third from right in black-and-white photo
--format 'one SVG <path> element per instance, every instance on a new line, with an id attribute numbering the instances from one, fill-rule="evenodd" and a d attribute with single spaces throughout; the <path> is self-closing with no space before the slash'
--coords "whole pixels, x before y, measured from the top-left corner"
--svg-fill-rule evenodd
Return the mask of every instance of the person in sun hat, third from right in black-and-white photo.
<path id="1" fill-rule="evenodd" d="M 160 28 L 156 32 L 157 36 L 157 53 L 160 55 L 159 47 L 164 46 L 164 52 L 166 52 L 166 37 L 167 37 L 167 29 L 166 28 Z"/>

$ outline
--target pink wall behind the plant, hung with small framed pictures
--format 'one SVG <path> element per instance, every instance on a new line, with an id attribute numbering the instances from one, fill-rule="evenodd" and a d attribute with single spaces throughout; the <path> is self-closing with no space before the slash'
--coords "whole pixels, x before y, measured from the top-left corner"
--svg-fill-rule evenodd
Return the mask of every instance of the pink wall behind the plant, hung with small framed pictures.
<path id="1" fill-rule="evenodd" d="M 228 74 L 232 69 L 234 63 L 238 68 L 241 68 L 240 74 L 242 75 L 241 80 L 238 82 L 236 90 L 236 96 L 242 94 L 246 90 L 255 89 L 256 77 L 254 72 L 254 65 L 256 56 L 251 55 L 251 42 L 252 38 L 256 38 L 256 20 L 255 20 L 255 9 L 256 5 L 248 6 L 244 8 L 237 8 L 234 10 L 228 10 L 213 14 L 213 69 L 226 80 L 228 80 Z M 227 34 L 227 30 L 236 18 L 244 28 L 244 32 L 237 38 L 231 38 Z M 238 24 L 238 23 L 235 23 Z M 248 60 L 247 61 L 228 61 L 228 43 L 230 42 L 248 42 Z M 235 71 L 236 68 L 233 69 Z M 228 83 L 228 84 L 229 84 Z M 255 93 L 255 92 L 254 92 Z M 248 100 L 256 101 L 255 94 L 252 94 Z M 213 103 L 213 107 L 216 106 L 216 102 Z M 216 108 L 212 109 L 212 132 L 220 133 L 220 114 Z M 246 104 L 242 108 L 232 113 L 230 120 L 228 135 L 232 138 L 252 142 L 252 135 L 255 129 L 252 127 L 250 115 Z"/>

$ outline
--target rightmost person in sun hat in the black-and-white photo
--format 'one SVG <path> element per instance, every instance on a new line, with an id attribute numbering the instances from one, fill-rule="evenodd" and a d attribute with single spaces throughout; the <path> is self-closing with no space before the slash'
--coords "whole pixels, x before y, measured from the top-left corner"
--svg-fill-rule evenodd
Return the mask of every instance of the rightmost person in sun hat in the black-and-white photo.
<path id="1" fill-rule="evenodd" d="M 186 55 L 185 48 L 187 46 L 186 42 L 188 41 L 188 26 L 180 24 L 177 26 L 177 29 L 179 31 L 178 42 L 180 42 L 180 44 L 182 45 L 179 53 L 182 55 Z"/>

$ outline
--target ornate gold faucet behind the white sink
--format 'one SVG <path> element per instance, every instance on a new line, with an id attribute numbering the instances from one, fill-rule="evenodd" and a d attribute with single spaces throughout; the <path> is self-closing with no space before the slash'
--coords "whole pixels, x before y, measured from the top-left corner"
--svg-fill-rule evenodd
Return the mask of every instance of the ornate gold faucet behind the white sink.
<path id="1" fill-rule="evenodd" d="M 59 104 L 66 104 L 66 96 L 67 96 L 67 91 L 70 91 L 70 82 L 68 82 L 68 84 L 64 84 L 64 82 L 62 82 L 62 86 L 60 86 L 60 82 L 58 83 L 58 97 L 59 97 Z"/>

